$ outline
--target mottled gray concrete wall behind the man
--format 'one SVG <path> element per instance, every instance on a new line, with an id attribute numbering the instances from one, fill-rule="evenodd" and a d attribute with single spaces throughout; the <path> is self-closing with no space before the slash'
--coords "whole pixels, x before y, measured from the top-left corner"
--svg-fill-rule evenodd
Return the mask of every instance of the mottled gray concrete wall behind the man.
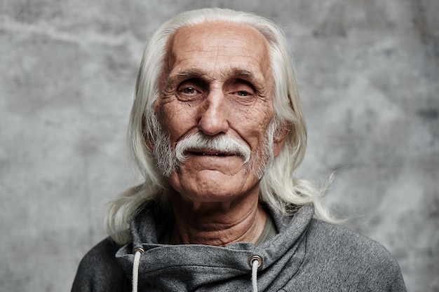
<path id="1" fill-rule="evenodd" d="M 219 6 L 274 18 L 295 51 L 309 148 L 297 176 L 360 214 L 409 291 L 439 291 L 439 1 L 5 0 L 0 4 L 0 291 L 69 291 L 136 181 L 125 132 L 144 42 Z"/>

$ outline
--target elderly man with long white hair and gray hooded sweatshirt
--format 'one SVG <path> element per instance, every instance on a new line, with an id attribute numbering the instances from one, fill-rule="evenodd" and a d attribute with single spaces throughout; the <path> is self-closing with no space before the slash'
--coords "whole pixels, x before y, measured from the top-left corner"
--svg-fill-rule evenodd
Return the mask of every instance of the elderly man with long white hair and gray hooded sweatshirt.
<path id="1" fill-rule="evenodd" d="M 113 202 L 72 291 L 405 291 L 386 249 L 293 179 L 306 129 L 269 20 L 205 9 L 158 28 L 130 144 L 144 183 Z"/>

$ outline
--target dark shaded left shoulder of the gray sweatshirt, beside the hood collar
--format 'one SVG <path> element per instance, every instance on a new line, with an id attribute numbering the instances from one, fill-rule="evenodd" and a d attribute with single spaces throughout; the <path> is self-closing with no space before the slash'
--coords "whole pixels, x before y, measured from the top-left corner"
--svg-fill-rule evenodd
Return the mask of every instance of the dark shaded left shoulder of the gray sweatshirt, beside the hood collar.
<path id="1" fill-rule="evenodd" d="M 123 291 L 126 276 L 114 256 L 120 247 L 107 238 L 90 249 L 79 263 L 72 292 Z"/>

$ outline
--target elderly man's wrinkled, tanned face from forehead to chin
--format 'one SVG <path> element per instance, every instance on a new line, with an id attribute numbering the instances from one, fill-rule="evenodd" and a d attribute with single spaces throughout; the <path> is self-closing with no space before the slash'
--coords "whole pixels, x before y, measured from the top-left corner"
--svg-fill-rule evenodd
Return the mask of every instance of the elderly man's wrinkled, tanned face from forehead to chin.
<path id="1" fill-rule="evenodd" d="M 170 147 L 194 134 L 216 141 L 189 143 L 170 185 L 194 202 L 257 195 L 255 169 L 264 169 L 269 160 L 264 150 L 277 155 L 282 145 L 267 138 L 274 117 L 273 81 L 262 34 L 222 22 L 184 27 L 170 41 L 166 61 L 154 108 Z M 234 139 L 238 150 L 247 148 L 249 162 L 236 148 L 221 146 L 222 137 Z"/>

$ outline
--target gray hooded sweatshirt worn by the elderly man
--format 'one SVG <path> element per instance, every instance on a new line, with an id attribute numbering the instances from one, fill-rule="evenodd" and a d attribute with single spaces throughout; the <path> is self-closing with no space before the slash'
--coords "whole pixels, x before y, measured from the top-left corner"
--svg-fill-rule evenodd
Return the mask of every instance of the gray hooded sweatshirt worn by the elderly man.
<path id="1" fill-rule="evenodd" d="M 259 246 L 167 245 L 157 242 L 172 218 L 152 204 L 131 223 L 131 244 L 104 239 L 84 256 L 72 292 L 131 291 L 137 271 L 138 291 L 254 291 L 252 280 L 257 291 L 406 291 L 384 246 L 314 219 L 311 205 L 271 216 L 278 234 Z M 135 247 L 144 250 L 138 268 Z M 252 256 L 262 258 L 253 276 Z"/>

